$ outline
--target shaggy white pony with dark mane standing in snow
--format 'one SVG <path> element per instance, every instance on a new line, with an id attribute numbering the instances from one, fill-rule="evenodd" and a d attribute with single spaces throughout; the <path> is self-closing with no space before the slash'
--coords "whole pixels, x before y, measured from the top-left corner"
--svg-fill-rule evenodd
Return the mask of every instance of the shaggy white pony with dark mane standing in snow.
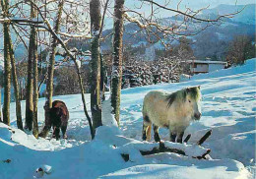
<path id="1" fill-rule="evenodd" d="M 173 93 L 160 90 L 150 91 L 143 102 L 143 137 L 151 139 L 151 128 L 154 127 L 154 138 L 160 142 L 159 128 L 169 129 L 170 141 L 182 143 L 185 129 L 193 120 L 201 117 L 201 92 L 199 87 L 181 89 Z"/>

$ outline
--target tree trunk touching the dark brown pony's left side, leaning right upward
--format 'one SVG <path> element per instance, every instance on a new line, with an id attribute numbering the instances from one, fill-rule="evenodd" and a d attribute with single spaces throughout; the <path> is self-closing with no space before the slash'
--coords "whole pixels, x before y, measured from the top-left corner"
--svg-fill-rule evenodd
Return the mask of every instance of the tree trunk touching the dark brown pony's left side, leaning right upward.
<path id="1" fill-rule="evenodd" d="M 54 31 L 57 33 L 60 30 L 60 21 L 61 15 L 63 11 L 64 1 L 61 0 L 58 6 L 58 14 L 55 21 Z M 54 64 L 55 64 L 55 54 L 56 54 L 56 46 L 57 46 L 57 37 L 52 36 L 51 42 L 51 52 L 49 58 L 49 66 L 48 66 L 48 79 L 46 84 L 46 101 L 44 105 L 44 116 L 45 116 L 45 124 L 44 127 L 39 134 L 39 137 L 45 138 L 51 128 L 51 121 L 49 116 L 49 110 L 52 107 L 52 95 L 53 95 L 53 74 L 54 74 Z"/>

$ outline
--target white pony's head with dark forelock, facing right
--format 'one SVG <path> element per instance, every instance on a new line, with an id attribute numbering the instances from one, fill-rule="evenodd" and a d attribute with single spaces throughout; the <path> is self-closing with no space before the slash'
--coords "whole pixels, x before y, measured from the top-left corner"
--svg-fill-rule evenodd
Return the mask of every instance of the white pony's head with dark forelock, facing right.
<path id="1" fill-rule="evenodd" d="M 195 120 L 201 118 L 201 91 L 200 86 L 184 89 L 184 107 Z"/>

